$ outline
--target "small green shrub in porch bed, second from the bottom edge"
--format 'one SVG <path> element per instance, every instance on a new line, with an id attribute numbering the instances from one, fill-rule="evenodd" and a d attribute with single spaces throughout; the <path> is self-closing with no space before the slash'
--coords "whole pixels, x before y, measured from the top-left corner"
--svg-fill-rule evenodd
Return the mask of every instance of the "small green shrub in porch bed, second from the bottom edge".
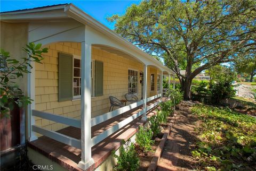
<path id="1" fill-rule="evenodd" d="M 154 140 L 152 140 L 153 132 L 148 127 L 139 127 L 139 131 L 136 134 L 136 142 L 143 152 L 151 151 Z"/>

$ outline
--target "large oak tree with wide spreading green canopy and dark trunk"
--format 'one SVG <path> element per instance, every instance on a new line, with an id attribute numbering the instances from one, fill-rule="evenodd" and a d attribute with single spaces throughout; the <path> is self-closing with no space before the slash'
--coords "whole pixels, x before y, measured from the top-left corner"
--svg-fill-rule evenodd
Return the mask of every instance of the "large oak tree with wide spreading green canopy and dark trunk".
<path id="1" fill-rule="evenodd" d="M 255 16 L 255 1 L 142 1 L 108 20 L 121 36 L 162 58 L 177 74 L 184 98 L 190 99 L 197 74 L 255 54 Z"/>

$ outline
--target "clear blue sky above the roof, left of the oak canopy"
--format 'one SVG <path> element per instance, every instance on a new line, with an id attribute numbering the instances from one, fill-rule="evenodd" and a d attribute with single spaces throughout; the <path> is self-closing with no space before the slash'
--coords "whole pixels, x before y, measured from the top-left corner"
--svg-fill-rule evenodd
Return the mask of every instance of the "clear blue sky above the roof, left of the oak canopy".
<path id="1" fill-rule="evenodd" d="M 9 1 L 1 0 L 0 11 L 13 11 L 54 4 L 73 3 L 93 18 L 113 29 L 114 23 L 109 23 L 106 18 L 113 14 L 124 14 L 131 4 L 139 4 L 140 1 Z"/>

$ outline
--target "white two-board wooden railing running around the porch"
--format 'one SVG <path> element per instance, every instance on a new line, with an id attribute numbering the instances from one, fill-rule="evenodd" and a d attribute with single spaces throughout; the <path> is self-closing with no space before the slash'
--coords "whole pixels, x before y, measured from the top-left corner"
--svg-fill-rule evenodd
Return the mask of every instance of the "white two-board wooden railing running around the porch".
<path id="1" fill-rule="evenodd" d="M 161 94 L 149 97 L 149 98 L 147 98 L 147 102 L 155 100 L 159 97 L 161 97 Z M 154 102 L 154 104 L 151 104 L 150 106 L 147 106 L 146 112 L 148 110 L 154 108 L 155 106 L 157 106 L 159 104 L 159 102 L 161 102 L 161 100 Z M 108 119 L 110 119 L 112 117 L 123 114 L 123 113 L 125 113 L 125 112 L 127 112 L 131 109 L 134 109 L 136 107 L 141 106 L 142 104 L 143 104 L 143 100 L 140 100 L 140 101 L 135 102 L 131 105 L 127 105 L 125 107 L 116 109 L 112 112 L 108 112 L 106 114 L 91 118 L 91 126 L 94 126 L 94 125 L 97 125 L 97 124 L 102 123 L 104 121 L 107 121 Z M 109 135 L 115 133 L 116 131 L 121 129 L 123 126 L 129 124 L 134 119 L 141 116 L 143 113 L 144 113 L 144 110 L 141 109 L 136 114 L 133 114 L 132 116 L 127 117 L 126 119 L 119 122 L 115 126 L 110 127 L 109 129 L 107 129 L 106 131 L 103 131 L 102 133 L 100 133 L 97 136 L 94 136 L 91 139 L 92 146 L 94 146 L 95 144 L 99 143 L 100 141 L 106 139 Z M 74 119 L 74 118 L 69 118 L 69 117 L 65 117 L 65 116 L 54 115 L 54 114 L 50 114 L 50 113 L 46 113 L 46 112 L 41 112 L 41 111 L 38 111 L 38 110 L 33 110 L 32 115 L 37 116 L 37 117 L 41 117 L 41 118 L 44 118 L 44 119 L 48 119 L 50 121 L 58 122 L 58 123 L 61 123 L 61 124 L 65 124 L 65 125 L 69 125 L 69 126 L 73 126 L 73 127 L 77 127 L 79 129 L 81 129 L 81 120 L 80 119 Z M 56 131 L 51 131 L 51 130 L 45 129 L 45 128 L 37 126 L 37 125 L 32 125 L 32 131 L 37 132 L 37 133 L 42 134 L 42 135 L 45 135 L 45 136 L 47 136 L 51 139 L 54 139 L 56 141 L 65 143 L 69 146 L 73 146 L 73 147 L 76 147 L 78 149 L 81 149 L 81 140 L 72 138 L 71 136 L 67 136 L 65 134 L 61 134 L 61 133 L 56 132 Z"/>

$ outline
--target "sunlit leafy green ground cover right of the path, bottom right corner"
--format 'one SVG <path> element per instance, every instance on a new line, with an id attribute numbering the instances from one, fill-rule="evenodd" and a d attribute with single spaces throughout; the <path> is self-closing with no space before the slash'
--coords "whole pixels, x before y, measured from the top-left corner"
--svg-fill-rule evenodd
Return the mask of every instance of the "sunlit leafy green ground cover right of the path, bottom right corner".
<path id="1" fill-rule="evenodd" d="M 198 170 L 256 170 L 256 118 L 229 108 L 196 105 Z"/>

